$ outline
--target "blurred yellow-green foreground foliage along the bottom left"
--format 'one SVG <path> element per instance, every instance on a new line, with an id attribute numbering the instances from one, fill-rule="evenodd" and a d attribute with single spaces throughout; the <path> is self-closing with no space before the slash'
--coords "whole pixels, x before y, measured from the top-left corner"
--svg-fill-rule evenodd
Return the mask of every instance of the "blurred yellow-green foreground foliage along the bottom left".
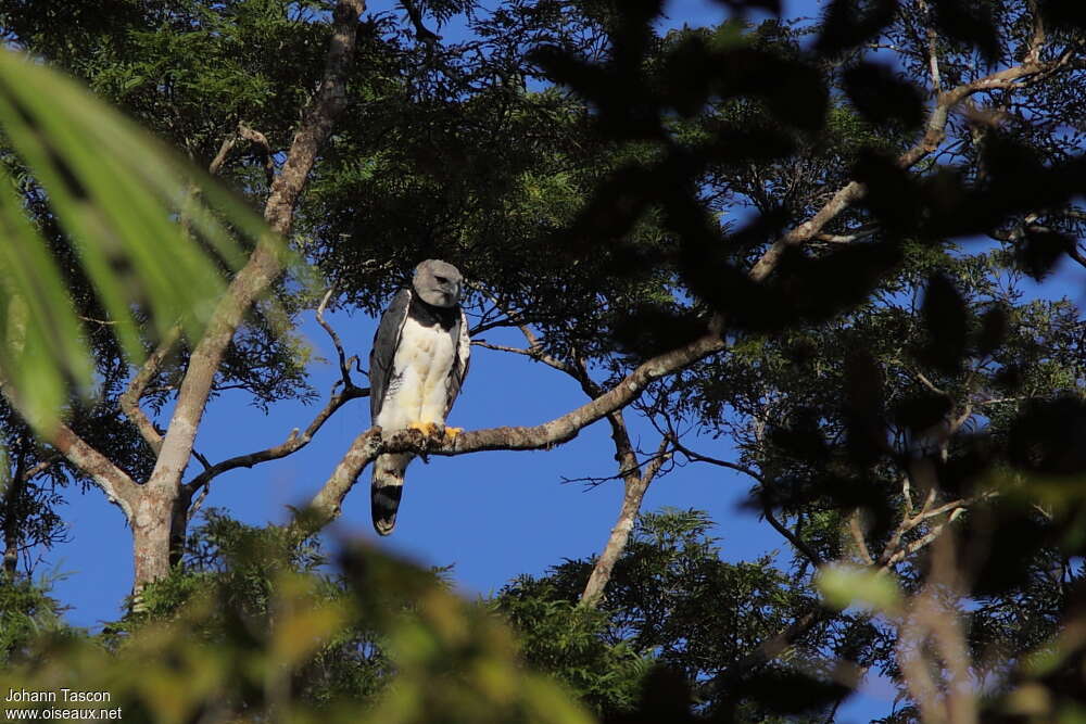
<path id="1" fill-rule="evenodd" d="M 4 619 L 2 686 L 78 682 L 111 693 L 126 721 L 592 721 L 432 571 L 363 545 L 331 563 L 313 539 L 214 511 L 193 538 L 147 611 L 94 637 L 48 635 L 41 592 L 0 584 L 22 612 Z"/>

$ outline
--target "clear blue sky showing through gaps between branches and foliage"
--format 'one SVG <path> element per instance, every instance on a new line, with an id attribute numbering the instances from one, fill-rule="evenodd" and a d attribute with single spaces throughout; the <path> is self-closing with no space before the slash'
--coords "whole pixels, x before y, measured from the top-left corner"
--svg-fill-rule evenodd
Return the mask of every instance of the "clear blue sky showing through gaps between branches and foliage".
<path id="1" fill-rule="evenodd" d="M 387 3 L 370 3 L 378 9 Z M 812 16 L 817 0 L 788 0 L 785 16 Z M 668 26 L 719 22 L 724 13 L 708 0 L 681 0 L 668 5 Z M 455 27 L 443 28 L 446 37 Z M 376 321 L 362 315 L 337 313 L 329 321 L 343 339 L 348 354 L 365 359 Z M 303 332 L 317 352 L 334 359 L 328 336 L 306 318 Z M 519 333 L 494 330 L 490 342 L 519 345 Z M 332 364 L 315 365 L 313 383 L 327 397 L 337 379 Z M 476 347 L 470 376 L 450 423 L 467 429 L 506 424 L 536 424 L 586 401 L 569 378 L 526 357 Z M 291 429 L 304 428 L 321 403 L 306 407 L 286 402 L 269 415 L 247 404 L 245 396 L 227 392 L 207 409 L 197 449 L 212 461 L 262 449 L 286 440 Z M 164 420 L 165 421 L 165 420 Z M 635 443 L 652 449 L 655 431 L 629 416 Z M 207 506 L 225 509 L 244 522 L 281 523 L 288 506 L 304 505 L 333 469 L 362 430 L 369 425 L 368 401 L 341 409 L 302 452 L 252 470 L 237 470 L 213 483 Z M 725 441 L 703 440 L 697 449 L 729 457 Z M 586 490 L 561 479 L 614 474 L 614 448 L 605 423 L 583 430 L 572 442 L 550 452 L 480 453 L 454 458 L 416 460 L 407 484 L 395 533 L 379 538 L 369 520 L 369 471 L 348 497 L 344 513 L 329 531 L 333 539 L 363 538 L 425 566 L 454 566 L 452 575 L 467 595 L 496 590 L 521 573 L 540 574 L 567 558 L 598 552 L 615 522 L 621 483 L 611 481 Z M 698 508 L 717 521 L 723 557 L 729 561 L 783 550 L 783 539 L 748 511 L 738 509 L 748 481 L 717 468 L 689 466 L 657 480 L 649 488 L 645 510 L 662 506 Z M 74 493 L 61 510 L 70 524 L 71 543 L 47 556 L 47 566 L 66 577 L 55 595 L 72 606 L 67 618 L 97 627 L 117 618 L 131 585 L 131 538 L 119 510 L 91 490 Z M 855 697 L 837 721 L 867 721 L 885 715 L 893 691 L 872 681 Z"/>

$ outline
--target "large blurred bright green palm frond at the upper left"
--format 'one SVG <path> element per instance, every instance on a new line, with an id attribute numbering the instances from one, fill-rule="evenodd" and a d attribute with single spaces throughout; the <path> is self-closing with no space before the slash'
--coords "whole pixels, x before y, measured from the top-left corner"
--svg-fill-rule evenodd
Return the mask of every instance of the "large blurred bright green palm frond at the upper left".
<path id="1" fill-rule="evenodd" d="M 247 247 L 282 249 L 207 175 L 71 79 L 10 50 L 0 52 L 0 129 L 43 189 L 132 363 L 175 323 L 200 338 Z M 93 366 L 62 270 L 12 185 L 3 187 L 0 376 L 24 414 L 48 424 L 72 383 L 89 390 Z"/>

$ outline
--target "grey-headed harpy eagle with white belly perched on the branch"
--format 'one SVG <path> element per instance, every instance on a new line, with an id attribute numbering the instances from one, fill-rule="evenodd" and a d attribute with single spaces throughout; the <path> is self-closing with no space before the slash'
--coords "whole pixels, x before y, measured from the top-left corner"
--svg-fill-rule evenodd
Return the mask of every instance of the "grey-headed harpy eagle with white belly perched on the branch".
<path id="1" fill-rule="evenodd" d="M 400 290 L 374 336 L 369 353 L 369 411 L 383 434 L 415 428 L 455 436 L 445 416 L 468 373 L 471 342 L 460 308 L 464 278 L 452 264 L 427 259 L 415 268 L 412 289 Z M 374 528 L 388 535 L 396 524 L 404 470 L 415 456 L 397 453 L 374 462 L 370 507 Z"/>

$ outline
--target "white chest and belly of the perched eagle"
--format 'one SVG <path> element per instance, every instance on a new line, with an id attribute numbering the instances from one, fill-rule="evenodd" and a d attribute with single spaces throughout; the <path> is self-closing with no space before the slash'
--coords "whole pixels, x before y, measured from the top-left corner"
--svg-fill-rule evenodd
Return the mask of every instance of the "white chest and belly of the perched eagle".
<path id="1" fill-rule="evenodd" d="M 392 363 L 392 383 L 377 417 L 384 430 L 413 422 L 444 424 L 449 373 L 456 359 L 453 335 L 408 317 Z"/>

